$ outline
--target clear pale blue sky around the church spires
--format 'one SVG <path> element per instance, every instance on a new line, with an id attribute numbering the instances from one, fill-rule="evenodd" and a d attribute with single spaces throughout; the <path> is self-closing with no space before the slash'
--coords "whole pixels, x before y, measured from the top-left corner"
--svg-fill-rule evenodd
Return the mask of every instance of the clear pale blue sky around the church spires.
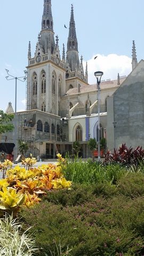
<path id="1" fill-rule="evenodd" d="M 15 82 L 6 81 L 5 68 L 14 76 L 22 76 L 27 66 L 28 42 L 32 56 L 37 35 L 41 31 L 43 0 L 1 1 L 0 109 L 8 102 L 14 108 Z M 116 79 L 117 73 L 131 71 L 132 40 L 135 40 L 138 61 L 144 58 L 143 0 L 52 0 L 55 36 L 59 47 L 67 46 L 71 3 L 74 4 L 79 56 L 88 61 L 89 82 L 95 83 L 94 71 L 104 71 L 103 79 Z M 97 61 L 93 61 L 97 54 Z M 17 110 L 25 109 L 25 83 L 18 82 Z"/>

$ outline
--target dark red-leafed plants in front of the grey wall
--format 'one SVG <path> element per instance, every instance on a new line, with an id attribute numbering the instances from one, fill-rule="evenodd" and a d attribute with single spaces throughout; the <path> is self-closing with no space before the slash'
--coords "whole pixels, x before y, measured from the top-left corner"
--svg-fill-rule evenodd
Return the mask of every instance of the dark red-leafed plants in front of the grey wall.
<path id="1" fill-rule="evenodd" d="M 144 149 L 138 146 L 137 148 L 128 148 L 123 144 L 119 149 L 114 149 L 114 153 L 108 152 L 105 154 L 104 163 L 119 163 L 126 166 L 138 165 L 144 159 Z"/>

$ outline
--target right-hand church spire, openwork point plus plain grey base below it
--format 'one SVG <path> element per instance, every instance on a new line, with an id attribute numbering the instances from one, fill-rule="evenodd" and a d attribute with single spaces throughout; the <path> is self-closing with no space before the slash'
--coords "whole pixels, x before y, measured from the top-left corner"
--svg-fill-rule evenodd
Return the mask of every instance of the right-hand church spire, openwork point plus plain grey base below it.
<path id="1" fill-rule="evenodd" d="M 78 43 L 76 37 L 76 27 L 74 20 L 74 7 L 71 4 L 71 16 L 69 22 L 69 36 L 67 42 L 67 62 L 71 71 L 75 71 L 79 67 Z"/>

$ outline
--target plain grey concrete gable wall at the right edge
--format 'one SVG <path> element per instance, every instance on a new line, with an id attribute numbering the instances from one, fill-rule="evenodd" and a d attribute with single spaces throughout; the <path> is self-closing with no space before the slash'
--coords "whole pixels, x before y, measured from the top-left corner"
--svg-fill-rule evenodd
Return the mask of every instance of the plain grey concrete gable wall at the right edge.
<path id="1" fill-rule="evenodd" d="M 144 61 L 126 78 L 123 84 L 108 99 L 108 146 L 111 149 L 114 141 L 116 124 L 116 148 L 126 143 L 128 147 L 144 147 Z M 114 102 L 113 102 L 114 100 Z M 114 103 L 114 107 L 113 107 Z M 114 111 L 114 115 L 113 115 Z M 114 118 L 113 118 L 114 117 Z"/>

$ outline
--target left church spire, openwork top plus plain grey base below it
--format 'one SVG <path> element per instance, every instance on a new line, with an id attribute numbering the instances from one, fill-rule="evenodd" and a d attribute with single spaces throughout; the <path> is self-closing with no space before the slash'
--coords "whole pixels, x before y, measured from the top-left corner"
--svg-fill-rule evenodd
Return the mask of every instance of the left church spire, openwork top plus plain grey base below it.
<path id="1" fill-rule="evenodd" d="M 49 48 L 51 48 L 50 51 L 51 53 L 53 53 L 55 48 L 51 6 L 51 0 L 44 0 L 44 11 L 41 30 L 41 45 L 43 47 L 44 54 L 48 52 Z"/>

